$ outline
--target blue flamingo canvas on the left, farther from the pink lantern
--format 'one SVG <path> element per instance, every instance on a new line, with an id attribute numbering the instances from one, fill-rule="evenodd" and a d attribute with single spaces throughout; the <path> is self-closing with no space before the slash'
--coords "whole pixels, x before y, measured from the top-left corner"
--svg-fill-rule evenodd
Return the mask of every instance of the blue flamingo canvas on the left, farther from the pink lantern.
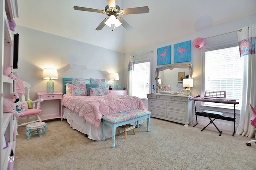
<path id="1" fill-rule="evenodd" d="M 157 65 L 171 64 L 171 46 L 157 49 Z"/>

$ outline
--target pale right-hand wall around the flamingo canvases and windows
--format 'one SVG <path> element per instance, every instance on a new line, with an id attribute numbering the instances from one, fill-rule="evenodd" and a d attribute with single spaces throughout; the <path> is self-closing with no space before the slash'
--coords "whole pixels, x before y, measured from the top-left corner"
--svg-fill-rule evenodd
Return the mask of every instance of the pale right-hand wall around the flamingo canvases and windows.
<path id="1" fill-rule="evenodd" d="M 138 57 L 136 56 L 136 59 L 138 58 L 145 58 L 145 57 L 152 57 L 152 75 L 151 75 L 151 84 L 152 86 L 153 83 L 155 83 L 155 77 L 154 77 L 154 68 L 159 67 L 157 66 L 157 49 L 160 47 L 165 47 L 168 45 L 171 45 L 171 63 L 173 63 L 173 46 L 176 43 L 181 43 L 184 41 L 192 41 L 197 38 L 197 37 L 202 37 L 205 39 L 205 46 L 204 48 L 216 46 L 216 45 L 221 45 L 223 43 L 228 43 L 228 42 L 237 42 L 237 33 L 229 33 L 232 31 L 236 31 L 240 29 L 241 27 L 244 27 L 246 25 L 250 25 L 252 23 L 255 23 L 256 21 L 256 15 L 249 16 L 246 18 L 241 18 L 240 20 L 235 20 L 231 21 L 228 23 L 224 23 L 221 25 L 217 25 L 214 27 L 211 27 L 209 29 L 206 29 L 204 31 L 199 31 L 194 34 L 186 35 L 184 37 L 178 37 L 176 39 L 170 39 L 168 41 L 160 42 L 158 44 L 149 46 L 149 47 L 144 47 L 142 49 L 137 49 L 134 51 L 130 51 L 129 53 L 125 54 L 125 62 L 128 62 L 128 57 L 129 55 L 136 55 L 136 54 L 141 54 L 141 53 L 146 53 L 149 51 L 153 51 L 153 53 L 146 53 L 144 55 L 139 55 Z M 175 25 L 174 25 L 175 26 Z M 224 34 L 228 33 L 228 34 Z M 221 35 L 224 34 L 224 35 Z M 219 36 L 216 36 L 219 35 Z M 150 36 L 150 35 L 149 35 Z M 214 36 L 214 37 L 213 37 Z M 194 47 L 191 47 L 191 62 L 184 62 L 184 63 L 179 63 L 179 64 L 189 64 L 192 63 L 192 78 L 194 79 L 194 87 L 191 88 L 191 95 L 192 96 L 197 96 L 197 95 L 203 95 L 204 92 L 202 91 L 202 51 L 203 49 L 195 49 Z M 124 72 L 125 78 L 124 80 L 127 80 L 127 72 Z M 126 84 L 127 82 L 125 82 Z M 222 110 L 220 110 L 222 111 Z M 230 110 L 224 110 L 226 111 L 225 115 L 233 117 L 232 114 L 232 109 Z M 193 112 L 194 112 L 194 106 L 193 106 Z M 228 113 L 231 112 L 231 113 Z M 237 111 L 236 113 L 238 113 Z M 209 119 L 206 117 L 198 117 L 199 118 L 199 123 L 202 125 L 207 125 L 209 123 Z M 195 115 L 193 115 L 193 122 L 195 123 Z M 226 129 L 229 131 L 233 131 L 233 122 L 231 121 L 222 121 L 222 120 L 216 120 L 216 122 L 219 123 L 218 127 L 220 129 Z M 239 122 L 239 114 L 236 114 L 236 126 L 238 125 Z"/>

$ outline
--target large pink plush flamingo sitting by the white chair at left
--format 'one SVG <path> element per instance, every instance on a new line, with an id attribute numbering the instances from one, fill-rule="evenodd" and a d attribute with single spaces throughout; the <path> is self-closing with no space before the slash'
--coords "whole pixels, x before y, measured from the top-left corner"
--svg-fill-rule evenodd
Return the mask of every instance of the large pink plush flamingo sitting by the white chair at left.
<path id="1" fill-rule="evenodd" d="M 8 98 L 3 98 L 3 112 L 4 113 L 12 113 L 15 117 L 19 117 L 23 115 L 23 113 L 18 113 L 14 110 L 16 104 L 19 101 L 19 95 L 16 92 L 10 93 Z"/>

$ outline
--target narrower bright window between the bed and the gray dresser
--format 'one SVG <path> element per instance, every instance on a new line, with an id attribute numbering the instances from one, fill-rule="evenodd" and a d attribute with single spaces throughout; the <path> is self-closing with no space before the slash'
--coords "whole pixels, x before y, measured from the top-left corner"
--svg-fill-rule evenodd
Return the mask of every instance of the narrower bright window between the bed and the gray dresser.
<path id="1" fill-rule="evenodd" d="M 132 73 L 132 96 L 146 99 L 147 93 L 150 93 L 150 61 L 135 61 Z"/>

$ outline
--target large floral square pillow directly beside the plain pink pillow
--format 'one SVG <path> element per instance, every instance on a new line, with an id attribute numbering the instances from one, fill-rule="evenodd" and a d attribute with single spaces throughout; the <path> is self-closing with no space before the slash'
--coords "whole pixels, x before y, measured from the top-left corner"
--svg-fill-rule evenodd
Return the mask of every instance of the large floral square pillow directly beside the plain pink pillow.
<path id="1" fill-rule="evenodd" d="M 72 95 L 73 96 L 88 96 L 86 84 L 91 84 L 90 79 L 72 77 Z"/>

